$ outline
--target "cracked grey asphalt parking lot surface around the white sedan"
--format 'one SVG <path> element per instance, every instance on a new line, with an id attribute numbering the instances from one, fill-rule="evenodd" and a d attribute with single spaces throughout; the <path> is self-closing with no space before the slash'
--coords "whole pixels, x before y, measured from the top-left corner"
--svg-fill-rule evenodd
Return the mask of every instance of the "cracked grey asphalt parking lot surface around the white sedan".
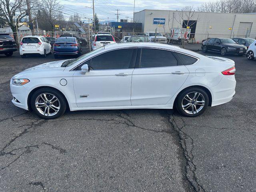
<path id="1" fill-rule="evenodd" d="M 236 95 L 196 118 L 98 110 L 42 120 L 12 104 L 10 79 L 65 58 L 0 55 L 0 191 L 255 191 L 256 60 L 226 57 Z"/>

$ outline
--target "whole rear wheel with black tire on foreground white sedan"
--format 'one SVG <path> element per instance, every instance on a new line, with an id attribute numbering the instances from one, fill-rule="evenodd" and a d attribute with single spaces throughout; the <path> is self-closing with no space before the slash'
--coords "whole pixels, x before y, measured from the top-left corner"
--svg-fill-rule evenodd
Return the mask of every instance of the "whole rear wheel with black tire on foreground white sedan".
<path id="1" fill-rule="evenodd" d="M 180 92 L 175 102 L 178 112 L 186 117 L 196 117 L 203 114 L 208 105 L 208 94 L 202 88 L 196 87 Z"/>

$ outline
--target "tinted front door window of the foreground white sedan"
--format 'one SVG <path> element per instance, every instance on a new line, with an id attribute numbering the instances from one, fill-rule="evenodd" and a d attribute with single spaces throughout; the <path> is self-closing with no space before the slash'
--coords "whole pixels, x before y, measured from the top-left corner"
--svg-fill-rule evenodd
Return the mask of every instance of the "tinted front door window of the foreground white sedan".
<path id="1" fill-rule="evenodd" d="M 103 53 L 92 58 L 92 70 L 128 69 L 132 62 L 134 49 L 121 49 Z"/>

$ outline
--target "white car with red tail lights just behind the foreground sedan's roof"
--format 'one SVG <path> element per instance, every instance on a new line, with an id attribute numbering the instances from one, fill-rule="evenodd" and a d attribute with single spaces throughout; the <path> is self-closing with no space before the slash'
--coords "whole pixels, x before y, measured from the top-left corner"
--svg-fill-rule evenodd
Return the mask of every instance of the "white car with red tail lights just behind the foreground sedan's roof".
<path id="1" fill-rule="evenodd" d="M 92 50 L 114 43 L 116 43 L 116 41 L 112 35 L 96 34 L 94 35 L 94 40 L 92 40 Z"/>

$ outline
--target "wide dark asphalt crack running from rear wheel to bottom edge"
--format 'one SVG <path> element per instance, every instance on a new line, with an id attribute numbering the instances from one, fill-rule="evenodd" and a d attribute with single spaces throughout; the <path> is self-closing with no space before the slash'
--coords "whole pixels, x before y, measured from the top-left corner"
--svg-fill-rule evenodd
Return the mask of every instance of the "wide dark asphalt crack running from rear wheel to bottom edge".
<path id="1" fill-rule="evenodd" d="M 172 125 L 173 129 L 178 133 L 178 137 L 180 140 L 181 148 L 183 149 L 184 157 L 186 158 L 186 178 L 188 182 L 193 186 L 194 190 L 196 192 L 205 192 L 203 186 L 199 183 L 198 178 L 196 177 L 196 165 L 194 164 L 194 155 L 192 153 L 194 148 L 194 141 L 193 139 L 186 134 L 182 128 L 184 128 L 186 123 L 184 120 L 180 117 L 183 126 L 179 127 L 175 121 L 174 115 L 169 116 L 169 122 Z M 190 142 L 191 149 L 188 149 L 187 142 Z"/>

